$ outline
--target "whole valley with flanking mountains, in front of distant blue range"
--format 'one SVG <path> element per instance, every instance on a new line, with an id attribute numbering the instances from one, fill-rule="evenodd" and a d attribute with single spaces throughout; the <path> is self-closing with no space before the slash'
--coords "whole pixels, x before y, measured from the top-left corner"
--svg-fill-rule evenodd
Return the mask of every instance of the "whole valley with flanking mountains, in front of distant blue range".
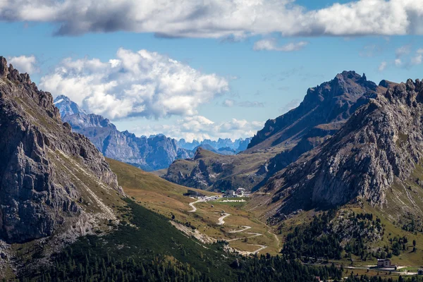
<path id="1" fill-rule="evenodd" d="M 420 281 L 422 95 L 343 72 L 245 152 L 149 173 L 105 158 L 0 57 L 1 278 Z"/>

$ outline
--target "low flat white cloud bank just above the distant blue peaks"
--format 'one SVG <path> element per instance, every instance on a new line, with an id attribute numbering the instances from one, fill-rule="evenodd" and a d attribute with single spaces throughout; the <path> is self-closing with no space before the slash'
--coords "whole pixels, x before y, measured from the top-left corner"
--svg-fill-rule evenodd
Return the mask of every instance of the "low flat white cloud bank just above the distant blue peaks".
<path id="1" fill-rule="evenodd" d="M 184 138 L 188 142 L 192 140 L 221 138 L 251 137 L 262 129 L 264 122 L 246 121 L 232 118 L 231 121 L 216 123 L 210 121 L 204 116 L 187 116 L 178 119 L 173 125 L 144 125 L 133 128 L 132 131 L 137 135 L 154 135 L 163 133 L 168 137 L 176 139 Z"/>

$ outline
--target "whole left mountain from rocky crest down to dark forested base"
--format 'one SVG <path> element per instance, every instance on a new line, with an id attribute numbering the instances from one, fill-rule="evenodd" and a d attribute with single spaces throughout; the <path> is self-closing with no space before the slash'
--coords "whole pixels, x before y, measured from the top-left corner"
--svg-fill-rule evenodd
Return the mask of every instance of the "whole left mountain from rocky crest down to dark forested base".
<path id="1" fill-rule="evenodd" d="M 61 121 L 51 94 L 4 57 L 0 150 L 3 281 L 160 281 L 168 274 L 181 281 L 245 280 L 230 266 L 241 257 L 222 243 L 206 246 L 125 197 L 103 155 Z M 137 169 L 117 163 L 118 173 Z M 182 195 L 186 188 L 136 173 L 141 178 L 135 180 L 147 187 L 141 189 L 159 185 L 169 197 L 190 201 Z M 125 186 L 132 185 L 133 175 L 123 178 Z"/>

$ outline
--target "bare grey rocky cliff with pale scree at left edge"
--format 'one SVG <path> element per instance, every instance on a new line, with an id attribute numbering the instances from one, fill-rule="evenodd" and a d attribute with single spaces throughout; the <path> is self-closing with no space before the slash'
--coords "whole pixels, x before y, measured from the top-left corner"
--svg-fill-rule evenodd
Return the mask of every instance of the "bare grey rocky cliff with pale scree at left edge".
<path id="1" fill-rule="evenodd" d="M 116 219 L 97 195 L 123 193 L 109 164 L 62 123 L 51 94 L 3 57 L 0 152 L 0 240 L 23 243 L 59 229 L 83 234 L 100 220 Z"/>

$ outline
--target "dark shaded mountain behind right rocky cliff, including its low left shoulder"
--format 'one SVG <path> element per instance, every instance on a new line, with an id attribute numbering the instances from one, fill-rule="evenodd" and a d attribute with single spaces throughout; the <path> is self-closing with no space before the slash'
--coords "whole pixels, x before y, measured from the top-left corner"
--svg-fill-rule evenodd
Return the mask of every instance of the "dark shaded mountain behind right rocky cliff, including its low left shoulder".
<path id="1" fill-rule="evenodd" d="M 200 154 L 190 160 L 174 161 L 165 178 L 209 190 L 257 190 L 274 173 L 338 132 L 356 109 L 391 83 L 376 85 L 354 71 L 339 73 L 333 80 L 309 88 L 300 106 L 267 121 L 245 151 L 236 156 Z M 222 166 L 226 166 L 225 171 Z"/>

